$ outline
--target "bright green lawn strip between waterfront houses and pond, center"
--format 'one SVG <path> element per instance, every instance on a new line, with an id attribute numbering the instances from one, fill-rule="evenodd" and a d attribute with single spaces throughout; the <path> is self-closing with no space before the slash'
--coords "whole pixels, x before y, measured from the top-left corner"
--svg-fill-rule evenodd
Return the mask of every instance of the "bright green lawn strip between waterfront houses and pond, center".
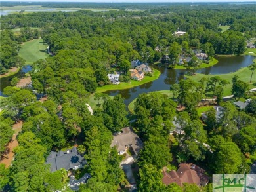
<path id="1" fill-rule="evenodd" d="M 157 69 L 153 69 L 152 77 L 146 76 L 141 81 L 131 80 L 129 82 L 121 82 L 119 85 L 111 84 L 111 85 L 101 86 L 96 89 L 96 92 L 105 92 L 107 90 L 122 90 L 122 89 L 132 88 L 134 86 L 139 86 L 144 83 L 154 81 L 154 80 L 158 79 L 160 74 L 161 74 L 160 71 L 158 71 Z"/>

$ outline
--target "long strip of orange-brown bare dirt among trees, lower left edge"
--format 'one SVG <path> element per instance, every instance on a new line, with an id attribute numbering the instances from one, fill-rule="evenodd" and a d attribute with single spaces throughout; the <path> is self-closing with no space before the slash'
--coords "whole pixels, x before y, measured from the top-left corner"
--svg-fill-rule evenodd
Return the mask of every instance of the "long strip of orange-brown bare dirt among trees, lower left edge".
<path id="1" fill-rule="evenodd" d="M 22 128 L 22 121 L 20 121 L 18 123 L 15 123 L 12 126 L 12 129 L 15 131 L 15 133 L 12 136 L 11 142 L 9 142 L 9 144 L 7 144 L 7 147 L 8 147 L 8 151 L 7 151 L 8 158 L 7 158 L 7 155 L 3 155 L 3 157 L 2 157 L 2 159 L 0 161 L 0 163 L 5 164 L 6 167 L 11 165 L 11 161 L 14 158 L 13 149 L 18 146 L 18 141 L 16 140 L 16 136 L 21 131 L 21 128 Z"/>

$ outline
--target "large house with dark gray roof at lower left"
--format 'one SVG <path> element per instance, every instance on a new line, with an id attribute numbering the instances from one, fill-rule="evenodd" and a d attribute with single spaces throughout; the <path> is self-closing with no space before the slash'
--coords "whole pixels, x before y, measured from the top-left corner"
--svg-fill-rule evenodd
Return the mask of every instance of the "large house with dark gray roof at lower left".
<path id="1" fill-rule="evenodd" d="M 84 157 L 78 153 L 77 148 L 73 147 L 67 151 L 51 151 L 45 164 L 51 164 L 51 172 L 64 168 L 65 170 L 77 170 L 86 164 Z"/>

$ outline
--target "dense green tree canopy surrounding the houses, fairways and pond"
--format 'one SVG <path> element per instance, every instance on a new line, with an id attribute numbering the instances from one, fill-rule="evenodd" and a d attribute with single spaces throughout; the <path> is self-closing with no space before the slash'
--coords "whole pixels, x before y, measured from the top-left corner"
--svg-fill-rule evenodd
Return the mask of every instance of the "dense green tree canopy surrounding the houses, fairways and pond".
<path id="1" fill-rule="evenodd" d="M 111 7 L 108 3 L 40 5 Z M 98 91 L 110 85 L 109 73 L 120 74 L 120 81 L 132 81 L 129 69 L 133 60 L 174 69 L 181 56 L 190 58 L 184 66 L 190 77 L 196 77 L 197 69 L 209 64 L 215 54 L 242 55 L 256 37 L 254 4 L 156 5 L 117 3 L 111 9 L 118 10 L 106 12 L 1 16 L 1 74 L 24 66 L 26 61 L 18 55 L 22 43 L 41 38 L 49 46 L 49 56 L 32 64 L 31 87 L 17 88 L 20 79 L 14 77 L 11 86 L 3 89 L 7 97 L 1 97 L 1 157 L 8 158 L 14 134 L 18 146 L 13 149 L 11 166 L 0 164 L 1 191 L 70 191 L 66 170 L 51 172 L 45 161 L 51 151 L 74 146 L 86 159 L 83 174 L 91 175 L 79 191 L 125 191 L 130 187 L 120 167 L 125 156 L 110 144 L 113 134 L 120 134 L 126 126 L 133 127 L 143 142 L 131 165 L 138 191 L 211 191 L 211 183 L 206 187 L 163 184 L 163 168 L 176 170 L 180 163 L 198 164 L 210 177 L 214 173 L 250 172 L 256 160 L 256 98 L 249 90 L 255 86 L 255 64 L 247 68 L 248 82 L 236 75 L 230 81 L 213 75 L 197 81 L 179 79 L 167 94 L 146 93 L 145 89 L 135 100 L 132 114 L 121 94 Z M 229 29 L 222 31 L 220 26 Z M 13 29 L 20 29 L 19 33 Z M 175 31 L 186 33 L 177 36 Z M 197 50 L 207 58 L 197 58 Z M 230 101 L 223 98 L 226 86 L 232 89 Z M 247 99 L 244 109 L 233 104 Z M 89 111 L 92 100 L 95 107 Z M 199 113 L 203 104 L 208 107 L 203 111 L 206 120 L 200 118 L 202 111 Z M 218 118 L 213 106 L 223 110 Z M 15 123 L 22 123 L 20 132 L 12 129 Z"/>

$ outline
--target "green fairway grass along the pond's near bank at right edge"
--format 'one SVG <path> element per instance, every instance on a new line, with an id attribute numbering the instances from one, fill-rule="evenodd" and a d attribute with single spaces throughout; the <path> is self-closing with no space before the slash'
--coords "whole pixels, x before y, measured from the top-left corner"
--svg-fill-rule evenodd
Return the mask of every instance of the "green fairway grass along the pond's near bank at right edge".
<path id="1" fill-rule="evenodd" d="M 234 73 L 228 73 L 228 74 L 221 74 L 221 75 L 204 75 L 204 74 L 199 74 L 196 73 L 196 75 L 190 76 L 190 75 L 185 75 L 185 77 L 192 79 L 194 81 L 199 81 L 202 77 L 214 77 L 214 76 L 219 76 L 221 77 L 221 79 L 226 79 L 227 81 L 230 82 L 230 84 L 228 84 L 226 87 L 224 87 L 224 93 L 223 96 L 229 96 L 231 95 L 231 88 L 232 88 L 232 77 L 234 77 L 234 75 L 238 75 L 238 77 L 240 77 L 240 80 L 248 82 L 251 79 L 251 71 L 245 67 L 242 69 L 239 69 L 238 71 L 234 72 Z M 249 88 L 255 88 L 255 83 L 256 83 L 256 75 L 253 75 L 253 79 L 252 79 L 252 83 L 249 85 Z"/>

